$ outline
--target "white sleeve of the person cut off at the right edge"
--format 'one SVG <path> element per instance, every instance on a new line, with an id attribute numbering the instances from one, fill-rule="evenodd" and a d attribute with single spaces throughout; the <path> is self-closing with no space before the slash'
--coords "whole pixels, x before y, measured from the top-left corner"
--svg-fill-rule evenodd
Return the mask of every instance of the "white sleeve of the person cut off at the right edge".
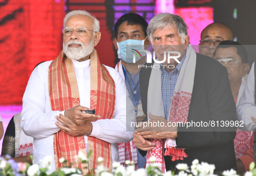
<path id="1" fill-rule="evenodd" d="M 244 122 L 243 127 L 239 128 L 244 131 L 250 131 L 256 128 L 256 123 L 251 119 L 251 116 L 256 118 L 254 64 L 252 65 L 246 86 L 237 106 L 237 118 L 239 121 Z"/>

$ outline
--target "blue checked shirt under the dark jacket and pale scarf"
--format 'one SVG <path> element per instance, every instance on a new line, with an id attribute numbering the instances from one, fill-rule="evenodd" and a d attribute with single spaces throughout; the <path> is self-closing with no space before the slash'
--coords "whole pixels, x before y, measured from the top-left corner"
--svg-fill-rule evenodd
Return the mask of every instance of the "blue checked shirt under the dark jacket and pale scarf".
<path id="1" fill-rule="evenodd" d="M 171 109 L 172 96 L 174 93 L 175 85 L 178 80 L 178 75 L 181 70 L 181 66 L 186 58 L 187 51 L 185 52 L 183 58 L 181 59 L 181 63 L 178 64 L 173 71 L 168 73 L 164 67 L 160 67 L 162 71 L 162 99 L 165 109 L 165 119 L 168 120 L 168 115 Z M 161 64 L 162 65 L 162 64 Z M 166 66 L 165 66 L 166 67 Z"/>

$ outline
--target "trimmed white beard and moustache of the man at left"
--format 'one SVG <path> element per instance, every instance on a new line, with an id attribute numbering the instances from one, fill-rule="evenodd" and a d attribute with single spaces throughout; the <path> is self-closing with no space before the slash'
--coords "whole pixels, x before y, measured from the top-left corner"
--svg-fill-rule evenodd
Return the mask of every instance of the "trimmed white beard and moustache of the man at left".
<path id="1" fill-rule="evenodd" d="M 81 47 L 70 47 L 71 44 L 78 44 Z M 79 60 L 84 58 L 92 53 L 94 50 L 94 38 L 91 39 L 90 43 L 84 45 L 82 42 L 78 40 L 71 40 L 66 45 L 63 42 L 63 51 L 66 56 L 70 59 Z"/>

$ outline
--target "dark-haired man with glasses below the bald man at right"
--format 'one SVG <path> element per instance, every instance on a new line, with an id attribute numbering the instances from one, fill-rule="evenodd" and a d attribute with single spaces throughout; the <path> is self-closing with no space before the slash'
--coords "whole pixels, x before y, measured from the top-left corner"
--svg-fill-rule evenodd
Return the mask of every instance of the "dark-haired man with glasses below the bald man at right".
<path id="1" fill-rule="evenodd" d="M 236 106 L 238 105 L 246 85 L 245 76 L 250 69 L 247 64 L 247 52 L 243 45 L 233 41 L 223 41 L 214 51 L 213 58 L 227 68 L 231 91 Z M 237 173 L 243 175 L 249 171 L 249 165 L 254 161 L 253 131 L 242 131 L 237 127 L 234 140 L 237 159 Z"/>

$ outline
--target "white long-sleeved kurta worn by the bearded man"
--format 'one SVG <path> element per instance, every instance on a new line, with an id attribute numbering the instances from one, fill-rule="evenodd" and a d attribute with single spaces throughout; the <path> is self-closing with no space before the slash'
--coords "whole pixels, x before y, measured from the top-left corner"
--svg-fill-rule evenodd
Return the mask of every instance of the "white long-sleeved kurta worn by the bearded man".
<path id="1" fill-rule="evenodd" d="M 90 60 L 79 62 L 72 60 L 78 83 L 81 106 L 90 108 L 91 72 Z M 52 171 L 55 170 L 53 134 L 60 129 L 55 125 L 56 115 L 64 115 L 65 111 L 52 111 L 49 100 L 48 68 L 52 61 L 46 61 L 33 70 L 26 91 L 23 96 L 21 113 L 21 127 L 26 135 L 34 138 L 33 163 L 39 163 L 45 156 L 52 156 Z M 113 162 L 119 161 L 118 142 L 129 142 L 133 139 L 130 122 L 135 122 L 135 113 L 126 85 L 120 74 L 111 67 L 107 67 L 116 86 L 116 107 L 113 119 L 101 119 L 92 122 L 91 136 L 107 141 L 111 144 Z M 127 113 L 126 113 L 127 110 Z M 126 125 L 127 121 L 127 125 Z M 126 132 L 127 131 L 127 132 Z M 130 131 L 130 132 L 129 132 Z M 84 135 L 88 153 L 87 136 Z"/>

